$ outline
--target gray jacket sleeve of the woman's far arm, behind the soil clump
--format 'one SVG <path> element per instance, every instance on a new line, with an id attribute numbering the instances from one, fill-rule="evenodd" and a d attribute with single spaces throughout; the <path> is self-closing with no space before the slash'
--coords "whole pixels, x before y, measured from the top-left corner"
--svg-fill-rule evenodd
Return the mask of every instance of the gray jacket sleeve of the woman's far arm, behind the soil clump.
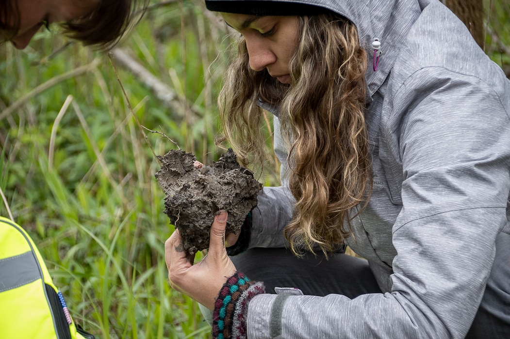
<path id="1" fill-rule="evenodd" d="M 264 187 L 259 194 L 259 203 L 252 211 L 252 226 L 249 247 L 284 247 L 287 241 L 283 229 L 292 218 L 294 197 L 287 180 L 287 150 L 284 146 L 278 118 L 274 117 L 274 151 L 281 162 L 281 186 Z"/>

